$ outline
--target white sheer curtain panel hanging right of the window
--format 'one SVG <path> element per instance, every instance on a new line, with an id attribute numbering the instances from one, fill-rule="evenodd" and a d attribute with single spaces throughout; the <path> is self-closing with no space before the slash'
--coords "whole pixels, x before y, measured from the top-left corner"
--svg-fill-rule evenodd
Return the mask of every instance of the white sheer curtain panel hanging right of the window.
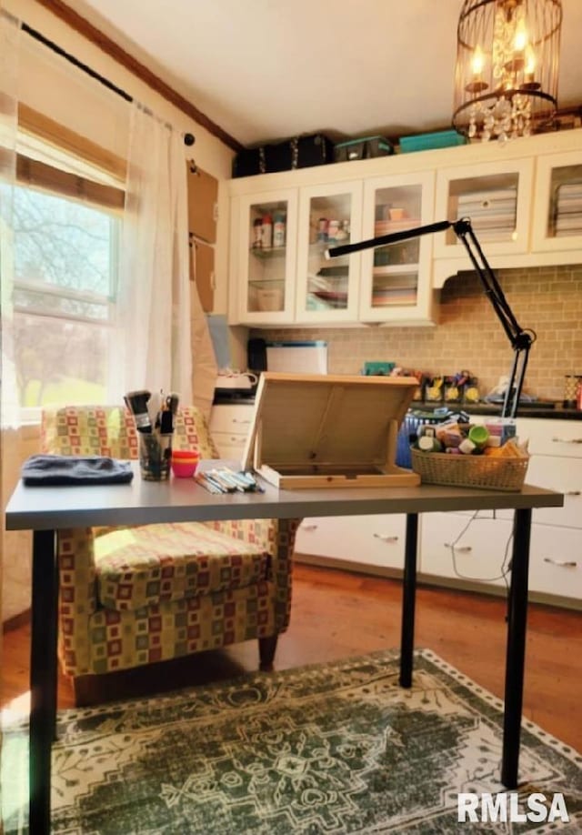
<path id="1" fill-rule="evenodd" d="M 133 104 L 120 246 L 115 389 L 192 402 L 186 159 L 182 137 Z"/>

